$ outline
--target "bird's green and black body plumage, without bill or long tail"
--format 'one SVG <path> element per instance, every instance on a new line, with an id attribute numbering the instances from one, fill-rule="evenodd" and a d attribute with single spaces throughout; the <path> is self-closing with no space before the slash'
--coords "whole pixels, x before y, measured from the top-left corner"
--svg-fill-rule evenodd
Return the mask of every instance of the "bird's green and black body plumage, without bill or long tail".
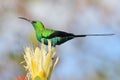
<path id="1" fill-rule="evenodd" d="M 40 42 L 43 40 L 46 45 L 48 44 L 48 39 L 51 41 L 52 45 L 55 46 L 74 38 L 72 34 L 65 35 L 67 34 L 65 32 L 56 32 L 55 30 L 47 29 L 40 21 L 32 21 L 32 25 L 35 29 L 37 40 Z"/>

